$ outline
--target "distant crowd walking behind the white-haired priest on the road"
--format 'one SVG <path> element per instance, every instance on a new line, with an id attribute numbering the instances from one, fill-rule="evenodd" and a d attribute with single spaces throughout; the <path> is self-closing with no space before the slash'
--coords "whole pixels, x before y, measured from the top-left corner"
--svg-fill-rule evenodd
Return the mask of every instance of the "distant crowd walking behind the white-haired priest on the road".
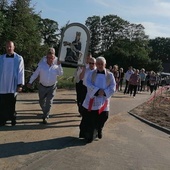
<path id="1" fill-rule="evenodd" d="M 142 93 L 142 91 L 148 91 L 150 94 L 160 85 L 161 78 L 154 71 L 145 71 L 142 69 L 135 69 L 132 66 L 129 66 L 126 72 L 123 71 L 123 68 L 114 65 L 109 67 L 110 72 L 113 73 L 116 80 L 116 90 L 122 91 L 122 85 L 124 85 L 124 94 L 133 95 L 135 98 L 137 93 Z"/>

